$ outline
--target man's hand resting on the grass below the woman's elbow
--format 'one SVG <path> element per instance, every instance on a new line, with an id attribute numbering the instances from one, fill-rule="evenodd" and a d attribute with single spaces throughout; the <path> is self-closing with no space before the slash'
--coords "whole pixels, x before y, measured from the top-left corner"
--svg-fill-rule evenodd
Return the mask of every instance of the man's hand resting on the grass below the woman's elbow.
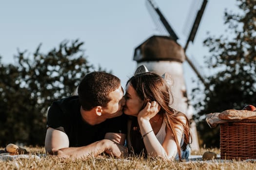
<path id="1" fill-rule="evenodd" d="M 105 153 L 108 153 L 115 157 L 122 157 L 122 158 L 129 156 L 128 149 L 125 146 L 120 145 L 108 139 L 104 139 L 104 140 L 106 140 L 107 142 L 107 149 L 105 150 Z"/>

